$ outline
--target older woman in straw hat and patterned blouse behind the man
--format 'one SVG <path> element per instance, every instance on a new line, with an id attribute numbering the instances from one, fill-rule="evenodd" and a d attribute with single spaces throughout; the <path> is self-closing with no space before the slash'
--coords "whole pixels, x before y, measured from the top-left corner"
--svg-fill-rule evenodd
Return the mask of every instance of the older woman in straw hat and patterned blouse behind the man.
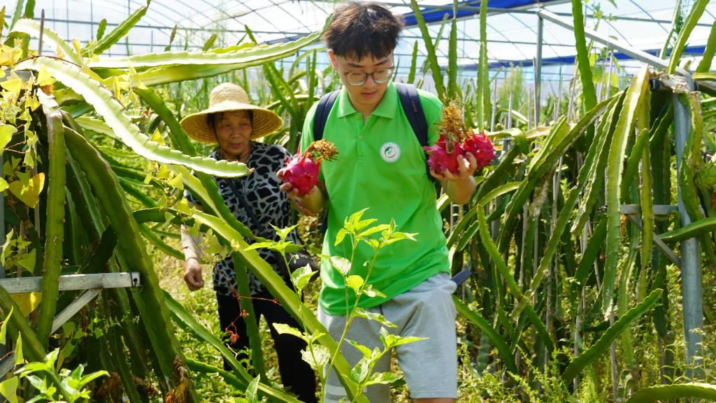
<path id="1" fill-rule="evenodd" d="M 289 199 L 279 189 L 281 180 L 276 178 L 276 171 L 284 167 L 286 157 L 290 154 L 280 145 L 253 140 L 279 130 L 281 118 L 270 110 L 251 105 L 243 88 L 224 83 L 212 89 L 208 109 L 185 117 L 181 125 L 194 140 L 217 143 L 218 147 L 211 152 L 211 157 L 216 160 L 243 162 L 253 168 L 253 173 L 243 178 L 215 178 L 216 184 L 224 203 L 241 223 L 256 236 L 278 241 L 271 225 L 286 228 L 294 224 Z M 195 203 L 189 193 L 186 196 L 190 203 Z M 295 230 L 291 231 L 288 239 L 300 243 Z M 191 291 L 198 290 L 204 282 L 197 240 L 183 233 L 182 246 L 186 260 L 184 281 Z M 259 249 L 258 253 L 290 284 L 289 271 L 279 253 L 268 249 Z M 273 302 L 274 297 L 252 273 L 248 273 L 248 283 L 256 314 L 255 318 L 249 320 L 258 322 L 263 315 L 268 322 L 284 386 L 302 401 L 316 402 L 314 373 L 301 359 L 301 350 L 306 344 L 295 336 L 278 334 L 273 326 L 279 323 L 300 328 L 299 324 Z M 213 267 L 213 288 L 218 301 L 221 329 L 238 335 L 238 339 L 232 338 L 235 341 L 228 345 L 234 350 L 248 348 L 246 323 L 241 316 L 231 256 Z"/>

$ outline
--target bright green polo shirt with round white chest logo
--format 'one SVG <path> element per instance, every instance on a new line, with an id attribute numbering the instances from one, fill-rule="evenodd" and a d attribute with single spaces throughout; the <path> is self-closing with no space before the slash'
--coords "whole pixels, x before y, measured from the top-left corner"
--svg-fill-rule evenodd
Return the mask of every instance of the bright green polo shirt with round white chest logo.
<path id="1" fill-rule="evenodd" d="M 432 145 L 438 137 L 442 104 L 429 92 L 418 93 Z M 301 150 L 314 140 L 315 112 L 316 105 L 306 117 Z M 351 258 L 350 239 L 336 246 L 336 235 L 345 218 L 364 208 L 368 210 L 363 219 L 375 218 L 375 224 L 394 219 L 397 230 L 417 233 L 416 241 L 398 241 L 378 253 L 368 282 L 386 297 L 364 295 L 359 306 L 377 306 L 436 273 L 449 273 L 435 186 L 427 177 L 425 152 L 405 117 L 395 84 L 390 82 L 380 104 L 365 122 L 351 105 L 347 90 L 342 89 L 326 121 L 324 139 L 333 142 L 339 151 L 337 160 L 321 163 L 320 178 L 328 195 L 324 255 Z M 365 278 L 369 263 L 364 263 L 372 261 L 373 256 L 372 248 L 360 243 L 351 273 Z M 321 308 L 331 315 L 346 314 L 347 306 L 355 303 L 355 293 L 349 290 L 346 301 L 343 278 L 327 259 L 321 264 L 321 281 Z"/>

